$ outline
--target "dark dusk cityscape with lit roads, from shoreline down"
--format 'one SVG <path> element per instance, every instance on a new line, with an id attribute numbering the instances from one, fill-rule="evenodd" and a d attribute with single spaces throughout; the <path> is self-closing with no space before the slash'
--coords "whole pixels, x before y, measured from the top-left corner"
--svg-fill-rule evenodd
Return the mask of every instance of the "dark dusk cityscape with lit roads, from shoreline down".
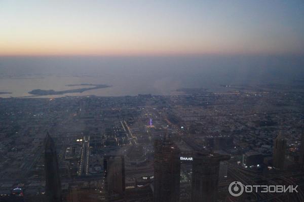
<path id="1" fill-rule="evenodd" d="M 303 91 L 222 88 L 0 98 L 0 201 L 303 201 Z"/>

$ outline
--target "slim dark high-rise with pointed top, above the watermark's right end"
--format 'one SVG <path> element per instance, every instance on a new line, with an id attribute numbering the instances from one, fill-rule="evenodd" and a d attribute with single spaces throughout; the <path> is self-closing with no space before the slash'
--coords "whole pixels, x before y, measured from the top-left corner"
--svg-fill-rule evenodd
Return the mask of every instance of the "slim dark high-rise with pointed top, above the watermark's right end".
<path id="1" fill-rule="evenodd" d="M 280 133 L 274 142 L 273 167 L 284 169 L 286 139 Z"/>

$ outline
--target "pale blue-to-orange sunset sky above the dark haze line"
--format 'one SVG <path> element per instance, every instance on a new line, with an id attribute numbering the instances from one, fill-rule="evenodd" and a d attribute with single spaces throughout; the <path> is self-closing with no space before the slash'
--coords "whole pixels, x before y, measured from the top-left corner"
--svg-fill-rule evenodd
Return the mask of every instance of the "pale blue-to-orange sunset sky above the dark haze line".
<path id="1" fill-rule="evenodd" d="M 0 0 L 0 55 L 303 53 L 302 0 Z"/>

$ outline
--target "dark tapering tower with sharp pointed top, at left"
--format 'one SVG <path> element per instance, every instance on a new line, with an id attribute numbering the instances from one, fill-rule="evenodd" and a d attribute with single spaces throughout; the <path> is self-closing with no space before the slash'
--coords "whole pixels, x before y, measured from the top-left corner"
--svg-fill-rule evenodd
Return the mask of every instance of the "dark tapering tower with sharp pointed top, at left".
<path id="1" fill-rule="evenodd" d="M 45 172 L 46 172 L 46 196 L 49 202 L 61 202 L 61 182 L 58 169 L 56 147 L 49 135 L 45 140 Z"/>

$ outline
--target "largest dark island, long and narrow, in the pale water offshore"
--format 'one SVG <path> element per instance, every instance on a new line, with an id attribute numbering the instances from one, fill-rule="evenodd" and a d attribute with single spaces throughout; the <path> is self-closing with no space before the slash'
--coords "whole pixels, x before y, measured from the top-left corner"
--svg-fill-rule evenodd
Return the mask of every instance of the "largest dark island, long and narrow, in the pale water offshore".
<path id="1" fill-rule="evenodd" d="M 103 88 L 109 88 L 111 86 L 104 85 L 104 84 L 72 84 L 72 85 L 66 85 L 68 87 L 73 86 L 93 86 L 91 88 L 82 88 L 82 89 L 71 89 L 71 90 L 65 90 L 65 91 L 54 91 L 54 90 L 41 90 L 41 89 L 35 89 L 30 92 L 29 94 L 32 95 L 63 95 L 66 93 L 83 93 L 85 91 L 94 90 L 94 89 L 103 89 Z"/>

